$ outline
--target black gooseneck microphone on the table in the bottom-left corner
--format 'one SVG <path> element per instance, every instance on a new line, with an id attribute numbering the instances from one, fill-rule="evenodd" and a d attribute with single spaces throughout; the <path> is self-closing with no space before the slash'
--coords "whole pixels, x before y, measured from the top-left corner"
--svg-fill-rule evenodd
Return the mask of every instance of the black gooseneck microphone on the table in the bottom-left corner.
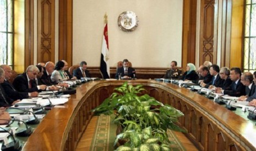
<path id="1" fill-rule="evenodd" d="M 10 142 L 6 145 L 4 145 L 4 143 L 2 143 L 2 147 L 1 147 L 1 150 L 3 151 L 7 151 L 7 150 L 13 150 L 13 151 L 16 151 L 16 150 L 21 150 L 21 146 L 20 146 L 20 143 L 19 141 L 15 140 L 14 136 L 12 133 L 10 133 L 9 131 L 3 129 L 3 127 L 0 127 L 2 130 L 4 130 L 5 132 L 8 132 L 10 134 L 10 137 L 13 138 L 13 142 Z"/>

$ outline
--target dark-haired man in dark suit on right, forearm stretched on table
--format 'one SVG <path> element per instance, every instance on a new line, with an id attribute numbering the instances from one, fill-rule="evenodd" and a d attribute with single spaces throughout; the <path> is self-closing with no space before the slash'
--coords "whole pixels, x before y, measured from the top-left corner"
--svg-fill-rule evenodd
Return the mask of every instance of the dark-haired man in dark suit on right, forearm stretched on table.
<path id="1" fill-rule="evenodd" d="M 241 69 L 238 67 L 234 67 L 230 69 L 230 79 L 232 80 L 232 84 L 226 88 L 225 90 L 217 90 L 217 93 L 222 93 L 224 95 L 230 96 L 242 96 L 246 95 L 246 86 L 241 83 Z"/>

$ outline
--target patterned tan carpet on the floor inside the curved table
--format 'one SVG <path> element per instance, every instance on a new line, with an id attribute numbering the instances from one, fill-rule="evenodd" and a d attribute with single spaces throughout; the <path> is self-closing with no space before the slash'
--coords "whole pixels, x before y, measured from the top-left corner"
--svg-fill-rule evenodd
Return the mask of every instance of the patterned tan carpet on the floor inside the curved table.
<path id="1" fill-rule="evenodd" d="M 108 115 L 100 115 L 97 118 L 94 138 L 91 142 L 90 150 L 93 151 L 107 151 L 114 150 L 113 144 L 116 137 L 116 125 L 111 123 L 112 118 Z M 167 131 L 171 144 L 171 150 L 186 150 L 182 143 L 177 139 L 175 133 L 171 130 Z"/>

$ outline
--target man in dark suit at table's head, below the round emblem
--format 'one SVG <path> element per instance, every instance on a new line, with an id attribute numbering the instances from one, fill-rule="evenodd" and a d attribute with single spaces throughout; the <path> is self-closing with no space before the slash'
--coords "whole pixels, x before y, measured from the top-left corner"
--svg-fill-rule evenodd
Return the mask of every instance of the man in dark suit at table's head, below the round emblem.
<path id="1" fill-rule="evenodd" d="M 128 67 L 129 61 L 127 59 L 123 60 L 123 67 L 117 69 L 117 73 L 115 78 L 119 79 L 118 75 L 120 75 L 122 79 L 130 79 L 135 78 L 135 69 L 132 67 Z"/>

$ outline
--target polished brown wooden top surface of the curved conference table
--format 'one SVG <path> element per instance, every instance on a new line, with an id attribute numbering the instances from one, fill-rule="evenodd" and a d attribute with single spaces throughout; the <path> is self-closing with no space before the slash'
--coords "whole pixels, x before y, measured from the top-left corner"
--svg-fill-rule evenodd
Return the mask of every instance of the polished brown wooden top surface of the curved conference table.
<path id="1" fill-rule="evenodd" d="M 86 100 L 94 91 L 102 89 L 93 97 L 98 98 L 105 90 L 122 85 L 125 81 L 98 80 L 78 85 L 77 94 L 71 95 L 69 101 L 63 106 L 56 106 L 47 113 L 28 138 L 23 150 L 72 150 L 67 149 L 66 143 L 70 139 L 70 129 L 72 129 L 72 124 L 76 115 L 78 115 L 79 109 L 84 107 Z M 182 98 L 184 102 L 196 108 L 198 112 L 209 117 L 219 129 L 226 131 L 237 141 L 241 141 L 241 146 L 245 144 L 249 150 L 256 149 L 256 126 L 254 121 L 242 118 L 208 98 L 175 84 L 156 82 L 155 80 L 129 80 L 128 83 L 133 85 L 143 84 L 147 88 L 164 89 L 166 92 Z M 86 106 L 93 105 L 86 104 Z"/>

